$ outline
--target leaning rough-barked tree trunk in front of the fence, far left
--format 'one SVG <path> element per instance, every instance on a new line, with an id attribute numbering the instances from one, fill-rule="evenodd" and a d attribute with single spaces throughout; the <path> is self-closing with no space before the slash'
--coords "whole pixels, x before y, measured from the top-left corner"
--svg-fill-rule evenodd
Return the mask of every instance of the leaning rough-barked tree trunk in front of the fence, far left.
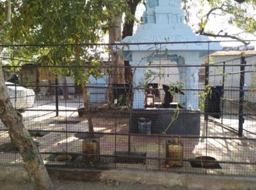
<path id="1" fill-rule="evenodd" d="M 0 119 L 7 127 L 11 139 L 14 140 L 18 146 L 20 155 L 22 155 L 26 170 L 32 179 L 35 189 L 54 189 L 39 150 L 22 122 L 22 115 L 16 111 L 11 104 L 5 86 L 1 64 L 0 93 Z"/>

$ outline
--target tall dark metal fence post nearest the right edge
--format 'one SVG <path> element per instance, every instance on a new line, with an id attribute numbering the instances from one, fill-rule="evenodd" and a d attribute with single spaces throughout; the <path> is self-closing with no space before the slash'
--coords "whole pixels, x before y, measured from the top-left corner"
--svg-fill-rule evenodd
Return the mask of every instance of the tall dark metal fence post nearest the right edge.
<path id="1" fill-rule="evenodd" d="M 238 136 L 243 135 L 243 124 L 244 124 L 244 68 L 245 68 L 245 52 L 241 53 L 241 66 L 240 66 L 240 93 L 239 93 L 239 126 Z"/>

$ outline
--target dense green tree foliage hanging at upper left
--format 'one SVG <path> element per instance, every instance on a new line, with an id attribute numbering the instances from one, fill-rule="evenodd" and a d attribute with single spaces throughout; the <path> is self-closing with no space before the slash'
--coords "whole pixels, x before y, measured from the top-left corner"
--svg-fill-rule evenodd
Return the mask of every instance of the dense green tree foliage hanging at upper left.
<path id="1" fill-rule="evenodd" d="M 75 81 L 81 83 L 87 81 L 89 75 L 97 77 L 100 73 L 96 67 L 100 64 L 100 52 L 87 44 L 98 43 L 114 22 L 114 14 L 124 12 L 126 6 L 124 0 L 12 1 L 12 22 L 2 31 L 0 41 L 42 45 L 41 48 L 19 47 L 15 56 L 44 66 L 70 66 L 70 69 L 56 67 L 52 71 L 59 75 L 72 71 Z M 0 9 L 5 12 L 3 1 L 0 1 Z M 4 19 L 5 15 L 1 15 L 0 23 Z M 59 45 L 54 46 L 56 43 Z M 72 67 L 82 65 L 93 67 L 86 73 L 79 67 Z"/>

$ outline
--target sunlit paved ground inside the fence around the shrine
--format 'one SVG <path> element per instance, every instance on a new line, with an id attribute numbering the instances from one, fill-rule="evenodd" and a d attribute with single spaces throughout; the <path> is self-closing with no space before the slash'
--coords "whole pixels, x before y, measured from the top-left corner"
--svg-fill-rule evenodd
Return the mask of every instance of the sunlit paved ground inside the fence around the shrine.
<path id="1" fill-rule="evenodd" d="M 43 104 L 45 103 L 45 104 Z M 40 132 L 58 130 L 61 132 L 49 132 L 43 137 L 35 137 L 35 142 L 39 143 L 41 152 L 70 152 L 81 153 L 83 143 L 76 138 L 74 133 L 68 134 L 62 132 L 68 131 L 85 131 L 87 130 L 87 121 L 83 117 L 77 117 L 75 111 L 79 107 L 78 102 L 61 102 L 60 110 L 70 110 L 68 112 L 60 111 L 59 116 L 56 116 L 54 104 L 46 104 L 41 102 L 38 107 L 33 107 L 37 111 L 24 111 L 24 123 L 28 130 L 39 130 Z M 38 111 L 41 110 L 41 111 Z M 51 111 L 49 111 L 51 110 Z M 230 123 L 232 126 L 238 126 L 238 120 L 234 118 L 223 118 L 223 123 Z M 60 123 L 60 121 L 65 121 Z M 66 124 L 66 121 L 72 123 Z M 75 123 L 77 122 L 77 123 Z M 126 119 L 102 118 L 95 119 L 95 131 L 106 133 L 100 138 L 100 155 L 113 155 L 113 151 L 127 151 L 128 136 L 120 135 L 127 134 L 128 121 Z M 193 173 L 193 174 L 216 174 L 216 175 L 232 175 L 232 176 L 255 176 L 256 174 L 256 142 L 253 133 L 244 132 L 245 138 L 239 138 L 235 132 L 226 129 L 223 125 L 217 124 L 221 122 L 218 119 L 213 121 L 205 121 L 202 118 L 201 135 L 209 138 L 183 138 L 184 155 L 183 159 L 188 160 L 183 162 L 183 167 L 165 168 L 165 142 L 166 139 L 154 136 L 131 136 L 131 149 L 135 152 L 146 153 L 146 157 L 154 158 L 147 159 L 146 164 L 119 164 L 113 163 L 113 159 L 104 159 L 98 163 L 98 168 L 137 168 L 139 170 L 161 170 L 165 172 Z M 246 119 L 245 126 L 248 131 L 255 129 L 255 121 Z M 1 128 L 1 126 L 0 126 Z M 207 129 L 207 130 L 206 130 Z M 109 132 L 117 132 L 116 136 L 108 135 Z M 214 137 L 214 138 L 213 138 Z M 215 138 L 219 137 L 219 138 Z M 223 139 L 222 139 L 223 138 Z M 230 139 L 229 139 L 230 138 Z M 235 138 L 235 139 L 232 139 Z M 252 140 L 247 140 L 251 138 Z M 0 132 L 1 143 L 9 142 L 9 134 L 6 131 Z M 0 144 L 1 144 L 0 143 Z M 204 168 L 192 168 L 189 160 L 196 157 L 207 155 L 214 157 L 220 162 L 221 170 Z M 46 164 L 56 164 L 54 161 L 47 159 L 51 155 L 42 154 Z M 160 158 L 160 162 L 157 160 Z M 79 161 L 76 159 L 75 161 Z M 2 163 L 20 163 L 21 157 L 18 153 L 1 153 L 0 162 Z M 80 162 L 71 162 L 71 164 Z M 248 163 L 248 164 L 232 164 L 232 163 Z M 250 164 L 251 163 L 251 164 Z M 57 163 L 62 164 L 62 163 Z"/>

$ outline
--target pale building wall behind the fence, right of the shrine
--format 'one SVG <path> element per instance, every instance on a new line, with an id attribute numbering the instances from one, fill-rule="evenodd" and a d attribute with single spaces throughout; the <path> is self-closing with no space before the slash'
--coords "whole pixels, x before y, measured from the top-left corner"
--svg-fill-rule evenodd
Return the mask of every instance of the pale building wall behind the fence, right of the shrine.
<path id="1" fill-rule="evenodd" d="M 237 91 L 240 86 L 240 58 L 241 53 L 230 55 L 219 55 L 215 53 L 210 58 L 210 64 L 214 64 L 209 68 L 209 85 L 223 85 L 224 88 L 230 89 L 224 94 L 225 98 L 234 98 L 238 100 L 239 92 Z M 256 55 L 247 54 L 245 56 L 245 101 L 256 103 Z M 223 65 L 225 64 L 225 68 Z M 225 71 L 224 71 L 225 69 Z M 202 67 L 202 70 L 204 68 Z M 223 81 L 224 71 L 224 81 Z M 203 71 L 201 72 L 203 73 Z M 203 83 L 202 83 L 203 84 Z M 232 89 L 236 90 L 232 92 Z"/>

